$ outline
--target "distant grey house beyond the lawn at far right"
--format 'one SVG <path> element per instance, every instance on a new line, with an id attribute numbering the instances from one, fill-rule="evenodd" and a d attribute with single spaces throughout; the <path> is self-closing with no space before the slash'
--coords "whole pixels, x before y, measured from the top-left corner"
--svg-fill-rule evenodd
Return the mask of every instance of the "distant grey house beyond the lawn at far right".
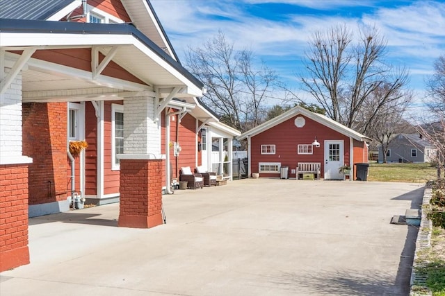
<path id="1" fill-rule="evenodd" d="M 436 148 L 421 134 L 396 134 L 388 145 L 387 162 L 431 162 L 435 155 Z M 382 146 L 378 162 L 383 162 Z"/>

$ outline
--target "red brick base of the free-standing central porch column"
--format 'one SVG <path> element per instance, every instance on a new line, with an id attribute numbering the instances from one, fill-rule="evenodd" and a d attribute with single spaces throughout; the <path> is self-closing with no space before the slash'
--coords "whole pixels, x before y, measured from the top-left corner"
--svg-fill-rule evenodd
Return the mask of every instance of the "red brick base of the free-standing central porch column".
<path id="1" fill-rule="evenodd" d="M 162 160 L 120 160 L 120 227 L 151 228 L 162 219 Z"/>

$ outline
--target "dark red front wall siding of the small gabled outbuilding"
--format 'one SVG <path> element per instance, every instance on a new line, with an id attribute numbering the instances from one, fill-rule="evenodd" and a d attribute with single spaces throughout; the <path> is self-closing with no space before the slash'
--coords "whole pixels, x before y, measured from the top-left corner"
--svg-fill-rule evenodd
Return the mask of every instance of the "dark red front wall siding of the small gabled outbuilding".
<path id="1" fill-rule="evenodd" d="M 298 115 L 301 116 L 301 115 Z M 291 169 L 296 168 L 298 162 L 321 162 L 321 176 L 324 174 L 324 141 L 344 141 L 344 162 L 349 163 L 349 138 L 336 132 L 325 125 L 313 121 L 305 116 L 305 126 L 297 128 L 294 121 L 297 116 L 284 121 L 273 128 L 257 134 L 251 139 L 251 170 L 252 173 L 259 171 L 259 162 L 280 162 L 282 166 L 289 166 L 289 177 Z M 298 155 L 298 144 L 310 144 L 317 137 L 321 144 L 319 148 L 314 147 L 312 155 Z M 275 155 L 261 155 L 261 145 L 275 145 Z M 279 177 L 278 174 L 261 173 L 261 177 Z"/>

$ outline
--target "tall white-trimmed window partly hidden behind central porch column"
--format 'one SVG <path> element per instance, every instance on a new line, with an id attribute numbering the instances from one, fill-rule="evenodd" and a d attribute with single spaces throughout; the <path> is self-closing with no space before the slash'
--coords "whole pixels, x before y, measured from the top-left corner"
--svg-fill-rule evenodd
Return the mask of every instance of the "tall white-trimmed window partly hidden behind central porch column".
<path id="1" fill-rule="evenodd" d="M 111 166 L 120 169 L 118 154 L 124 153 L 124 106 L 111 104 Z"/>

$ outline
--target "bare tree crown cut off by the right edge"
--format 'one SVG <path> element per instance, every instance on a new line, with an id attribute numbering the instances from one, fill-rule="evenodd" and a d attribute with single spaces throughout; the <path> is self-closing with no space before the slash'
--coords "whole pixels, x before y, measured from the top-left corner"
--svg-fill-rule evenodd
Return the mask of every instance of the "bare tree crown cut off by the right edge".
<path id="1" fill-rule="evenodd" d="M 434 114 L 445 116 L 445 55 L 435 61 L 434 69 L 434 75 L 426 82 L 428 106 Z"/>

